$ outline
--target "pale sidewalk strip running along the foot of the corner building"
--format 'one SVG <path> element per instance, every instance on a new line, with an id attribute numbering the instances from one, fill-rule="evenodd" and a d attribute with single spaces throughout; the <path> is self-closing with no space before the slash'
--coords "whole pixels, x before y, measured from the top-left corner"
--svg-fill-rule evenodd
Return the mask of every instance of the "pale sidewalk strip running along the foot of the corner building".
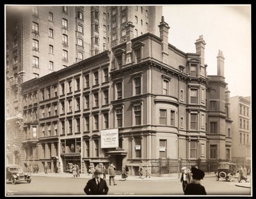
<path id="1" fill-rule="evenodd" d="M 31 173 L 32 178 L 33 176 L 40 176 L 40 177 L 62 177 L 62 178 L 74 178 L 72 173 Z M 181 174 L 180 174 L 181 175 Z M 214 174 L 205 174 L 205 177 L 214 177 Z M 80 177 L 77 177 L 76 179 L 92 179 L 92 176 L 88 175 L 87 173 L 80 173 Z M 106 175 L 106 180 L 109 179 L 109 175 Z M 121 175 L 115 176 L 116 181 L 121 181 L 122 177 Z M 139 176 L 136 175 L 129 175 L 126 179 L 126 181 L 170 181 L 170 180 L 180 180 L 180 177 L 178 177 L 178 174 L 172 177 L 157 177 L 157 176 L 151 176 L 145 177 L 143 179 L 140 179 Z"/>

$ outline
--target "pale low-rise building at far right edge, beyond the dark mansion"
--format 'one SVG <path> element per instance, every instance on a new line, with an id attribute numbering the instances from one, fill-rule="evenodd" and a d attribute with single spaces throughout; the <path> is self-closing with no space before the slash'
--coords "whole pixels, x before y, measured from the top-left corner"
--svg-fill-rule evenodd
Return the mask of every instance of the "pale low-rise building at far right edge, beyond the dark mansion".
<path id="1" fill-rule="evenodd" d="M 251 99 L 234 96 L 230 98 L 232 123 L 232 161 L 251 164 Z"/>

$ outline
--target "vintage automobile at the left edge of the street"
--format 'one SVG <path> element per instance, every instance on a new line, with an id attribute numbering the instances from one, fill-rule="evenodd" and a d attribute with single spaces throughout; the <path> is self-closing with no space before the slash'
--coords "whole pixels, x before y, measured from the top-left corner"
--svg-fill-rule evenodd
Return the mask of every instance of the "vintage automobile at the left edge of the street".
<path id="1" fill-rule="evenodd" d="M 31 182 L 31 174 L 22 172 L 22 166 L 6 165 L 6 182 L 16 184 L 16 182 Z"/>

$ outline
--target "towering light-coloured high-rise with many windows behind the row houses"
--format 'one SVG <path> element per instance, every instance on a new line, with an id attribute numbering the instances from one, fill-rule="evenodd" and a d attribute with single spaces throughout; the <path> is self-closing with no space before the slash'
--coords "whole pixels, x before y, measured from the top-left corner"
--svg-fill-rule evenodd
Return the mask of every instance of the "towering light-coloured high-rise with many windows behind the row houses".
<path id="1" fill-rule="evenodd" d="M 161 6 L 6 6 L 8 163 L 23 161 L 22 82 L 124 42 L 122 29 L 128 21 L 138 35 L 156 34 L 161 15 Z"/>

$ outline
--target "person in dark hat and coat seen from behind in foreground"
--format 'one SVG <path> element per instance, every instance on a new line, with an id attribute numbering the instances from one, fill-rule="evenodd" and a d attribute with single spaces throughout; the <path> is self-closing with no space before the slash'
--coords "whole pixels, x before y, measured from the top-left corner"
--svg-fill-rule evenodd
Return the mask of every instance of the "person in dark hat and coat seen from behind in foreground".
<path id="1" fill-rule="evenodd" d="M 201 180 L 204 179 L 204 171 L 193 166 L 191 168 L 191 173 L 192 180 L 191 183 L 186 186 L 184 195 L 206 195 L 204 186 L 200 184 Z"/>

